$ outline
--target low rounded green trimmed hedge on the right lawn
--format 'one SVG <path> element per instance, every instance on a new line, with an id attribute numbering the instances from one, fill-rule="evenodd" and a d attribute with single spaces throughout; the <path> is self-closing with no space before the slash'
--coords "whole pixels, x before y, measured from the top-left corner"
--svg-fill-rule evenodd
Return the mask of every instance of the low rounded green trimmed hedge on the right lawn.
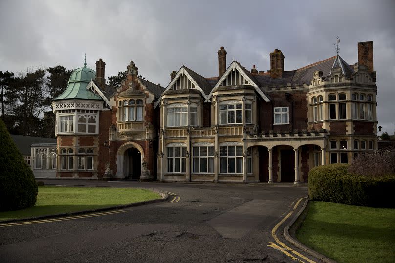
<path id="1" fill-rule="evenodd" d="M 351 174 L 348 164 L 314 167 L 308 173 L 308 195 L 317 201 L 371 207 L 395 207 L 395 175 Z"/>

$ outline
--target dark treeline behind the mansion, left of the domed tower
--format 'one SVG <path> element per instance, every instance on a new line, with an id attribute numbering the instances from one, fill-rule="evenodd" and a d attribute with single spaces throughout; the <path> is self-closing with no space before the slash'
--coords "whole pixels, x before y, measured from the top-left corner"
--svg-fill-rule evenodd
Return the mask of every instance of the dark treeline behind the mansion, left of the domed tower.
<path id="1" fill-rule="evenodd" d="M 72 70 L 63 66 L 0 71 L 1 118 L 11 134 L 55 137 L 51 100 L 67 86 Z"/>

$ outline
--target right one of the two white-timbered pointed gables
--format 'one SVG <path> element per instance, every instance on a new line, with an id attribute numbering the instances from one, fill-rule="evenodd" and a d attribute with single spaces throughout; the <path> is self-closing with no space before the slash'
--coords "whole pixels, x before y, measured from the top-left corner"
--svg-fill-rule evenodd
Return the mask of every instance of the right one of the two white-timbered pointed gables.
<path id="1" fill-rule="evenodd" d="M 217 84 L 214 86 L 213 90 L 224 86 L 249 85 L 255 88 L 255 91 L 263 98 L 264 101 L 269 102 L 269 98 L 263 93 L 263 91 L 258 86 L 258 82 L 253 78 L 254 77 L 250 76 L 249 73 L 247 73 L 247 71 L 244 70 L 244 68 L 242 68 L 238 62 L 233 61 L 219 79 Z M 212 96 L 213 92 L 210 92 L 206 102 L 208 102 Z"/>

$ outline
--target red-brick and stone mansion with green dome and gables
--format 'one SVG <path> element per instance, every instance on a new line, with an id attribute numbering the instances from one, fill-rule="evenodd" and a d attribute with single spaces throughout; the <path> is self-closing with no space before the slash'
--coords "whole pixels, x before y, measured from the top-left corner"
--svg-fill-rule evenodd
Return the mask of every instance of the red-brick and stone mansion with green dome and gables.
<path id="1" fill-rule="evenodd" d="M 32 146 L 32 168 L 53 178 L 307 182 L 315 166 L 377 150 L 373 42 L 357 49 L 355 64 L 336 55 L 290 71 L 275 49 L 265 72 L 228 64 L 220 47 L 218 76 L 182 66 L 166 88 L 139 78 L 133 61 L 118 87 L 106 84 L 102 59 L 96 71 L 84 63 L 52 101 L 57 143 Z"/>

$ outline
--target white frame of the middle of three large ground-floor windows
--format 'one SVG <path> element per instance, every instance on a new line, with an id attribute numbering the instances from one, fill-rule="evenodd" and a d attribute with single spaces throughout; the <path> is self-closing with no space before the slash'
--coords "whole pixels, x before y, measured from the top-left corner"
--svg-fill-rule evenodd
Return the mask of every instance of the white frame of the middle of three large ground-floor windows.
<path id="1" fill-rule="evenodd" d="M 204 153 L 206 155 L 202 155 Z M 213 174 L 214 173 L 214 156 L 215 156 L 215 149 L 214 144 L 209 142 L 198 142 L 192 145 L 192 172 L 194 174 Z M 206 171 L 201 171 L 202 167 L 202 160 L 206 163 Z M 197 167 L 195 167 L 197 164 Z M 210 166 L 212 166 L 211 170 Z M 198 168 L 198 169 L 196 169 Z"/>

